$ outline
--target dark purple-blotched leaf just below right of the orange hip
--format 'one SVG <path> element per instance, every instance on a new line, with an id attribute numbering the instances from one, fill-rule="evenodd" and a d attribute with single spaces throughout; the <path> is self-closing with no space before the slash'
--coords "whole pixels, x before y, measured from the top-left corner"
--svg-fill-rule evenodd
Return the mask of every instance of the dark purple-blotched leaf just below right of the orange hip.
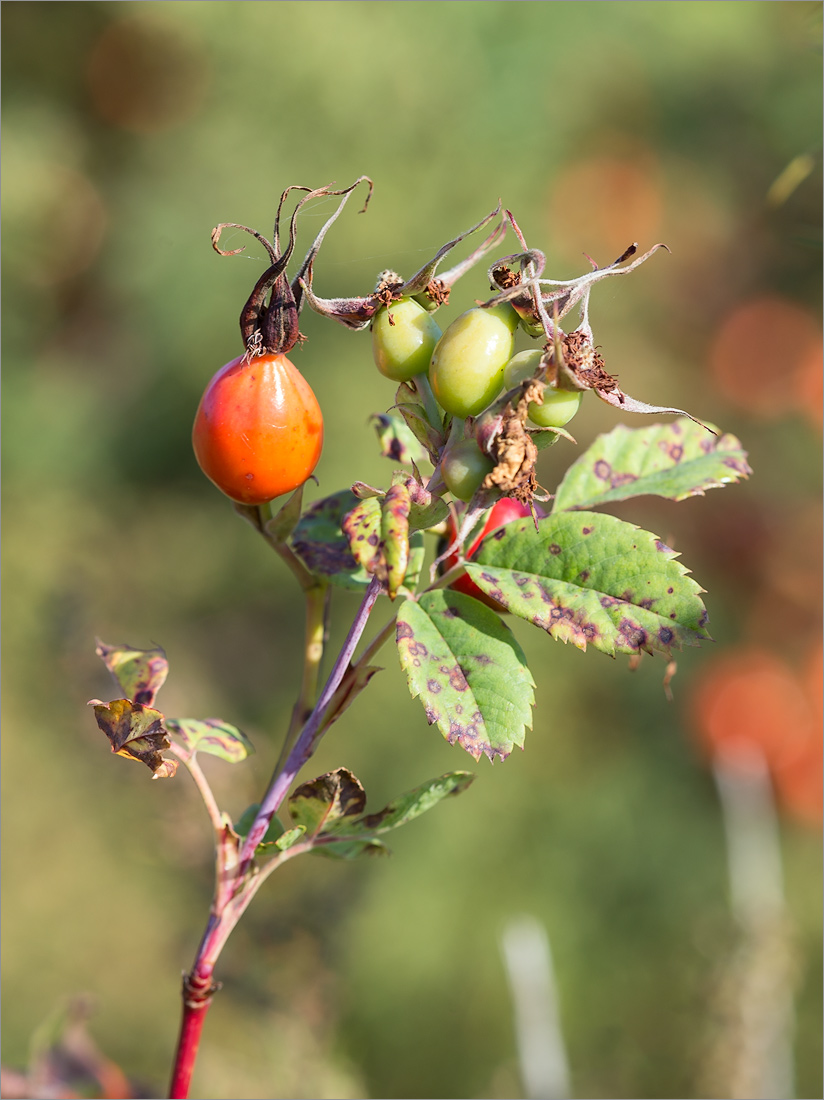
<path id="1" fill-rule="evenodd" d="M 292 534 L 292 548 L 306 568 L 343 588 L 363 588 L 370 575 L 355 559 L 341 520 L 358 505 L 359 498 L 344 488 L 316 501 Z"/>

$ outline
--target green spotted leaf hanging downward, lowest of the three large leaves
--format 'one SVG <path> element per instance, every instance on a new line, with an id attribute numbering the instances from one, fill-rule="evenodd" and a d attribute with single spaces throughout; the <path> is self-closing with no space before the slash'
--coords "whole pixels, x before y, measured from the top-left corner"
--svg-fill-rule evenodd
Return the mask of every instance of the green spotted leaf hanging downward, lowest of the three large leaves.
<path id="1" fill-rule="evenodd" d="M 512 631 L 477 600 L 438 590 L 407 600 L 396 639 L 413 697 L 430 725 L 475 760 L 524 744 L 535 682 Z"/>

